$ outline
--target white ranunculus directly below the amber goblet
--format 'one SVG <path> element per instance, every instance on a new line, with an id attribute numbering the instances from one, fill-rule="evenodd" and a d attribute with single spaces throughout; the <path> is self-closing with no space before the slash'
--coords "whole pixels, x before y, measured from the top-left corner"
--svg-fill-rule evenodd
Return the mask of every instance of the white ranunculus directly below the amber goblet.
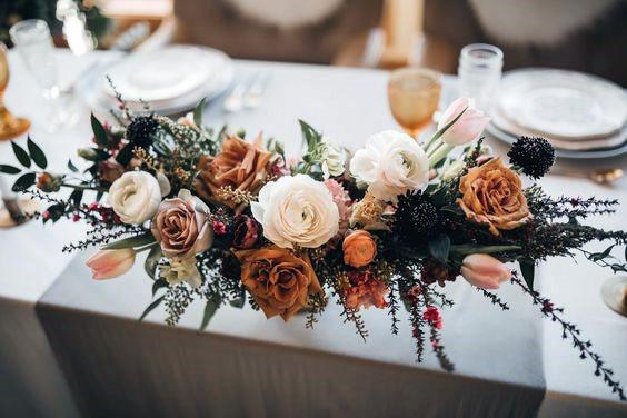
<path id="1" fill-rule="evenodd" d="M 376 198 L 396 202 L 399 195 L 427 186 L 429 158 L 407 133 L 387 130 L 355 153 L 350 173 Z"/>

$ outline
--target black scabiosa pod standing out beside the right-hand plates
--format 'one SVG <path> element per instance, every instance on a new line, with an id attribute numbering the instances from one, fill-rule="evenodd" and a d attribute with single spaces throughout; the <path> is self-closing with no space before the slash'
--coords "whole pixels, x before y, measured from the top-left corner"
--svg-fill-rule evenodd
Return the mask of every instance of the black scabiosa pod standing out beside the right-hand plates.
<path id="1" fill-rule="evenodd" d="M 507 156 L 515 167 L 534 179 L 546 175 L 555 162 L 555 149 L 540 137 L 518 138 Z"/>

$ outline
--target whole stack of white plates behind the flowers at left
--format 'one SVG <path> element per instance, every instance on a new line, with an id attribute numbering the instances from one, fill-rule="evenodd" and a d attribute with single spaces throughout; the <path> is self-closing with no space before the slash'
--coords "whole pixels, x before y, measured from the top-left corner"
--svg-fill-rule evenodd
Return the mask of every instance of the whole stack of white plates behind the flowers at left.
<path id="1" fill-rule="evenodd" d="M 90 74 L 90 88 L 80 89 L 94 111 L 116 108 L 116 91 L 136 111 L 146 106 L 160 115 L 192 109 L 203 98 L 213 98 L 229 88 L 233 79 L 230 58 L 207 47 L 170 46 L 136 52 Z"/>

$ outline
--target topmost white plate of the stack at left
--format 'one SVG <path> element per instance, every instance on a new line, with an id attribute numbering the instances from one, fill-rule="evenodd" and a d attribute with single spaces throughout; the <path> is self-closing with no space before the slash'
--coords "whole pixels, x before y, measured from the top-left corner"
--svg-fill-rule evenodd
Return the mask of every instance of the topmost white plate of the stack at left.
<path id="1" fill-rule="evenodd" d="M 227 59 L 210 48 L 171 46 L 133 53 L 112 66 L 108 74 L 127 101 L 172 100 L 208 82 Z M 104 91 L 115 97 L 107 82 Z"/>

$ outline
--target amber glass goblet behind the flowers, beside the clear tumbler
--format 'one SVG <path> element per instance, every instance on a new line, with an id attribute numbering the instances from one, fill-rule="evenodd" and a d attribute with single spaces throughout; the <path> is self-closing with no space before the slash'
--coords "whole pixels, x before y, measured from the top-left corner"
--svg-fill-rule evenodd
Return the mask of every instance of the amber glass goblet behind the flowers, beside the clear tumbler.
<path id="1" fill-rule="evenodd" d="M 388 101 L 396 121 L 414 139 L 431 123 L 441 93 L 441 74 L 426 68 L 402 68 L 390 74 Z"/>

